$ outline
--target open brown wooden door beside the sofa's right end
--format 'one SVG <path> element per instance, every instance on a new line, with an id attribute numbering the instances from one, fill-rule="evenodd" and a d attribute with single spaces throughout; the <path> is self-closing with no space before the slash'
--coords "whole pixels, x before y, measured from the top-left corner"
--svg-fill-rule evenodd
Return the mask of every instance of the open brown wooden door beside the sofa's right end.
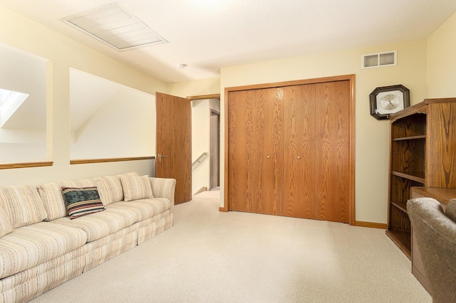
<path id="1" fill-rule="evenodd" d="M 192 200 L 192 122 L 190 100 L 156 93 L 155 176 L 176 179 L 175 204 Z"/>

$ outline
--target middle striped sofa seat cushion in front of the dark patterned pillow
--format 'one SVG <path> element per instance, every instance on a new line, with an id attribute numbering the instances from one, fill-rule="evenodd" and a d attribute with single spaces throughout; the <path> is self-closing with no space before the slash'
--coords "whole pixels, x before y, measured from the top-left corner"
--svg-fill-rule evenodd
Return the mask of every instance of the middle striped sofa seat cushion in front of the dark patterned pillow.
<path id="1" fill-rule="evenodd" d="M 87 242 L 92 242 L 128 227 L 137 222 L 137 220 L 138 214 L 133 210 L 107 208 L 105 211 L 83 216 L 76 220 L 70 220 L 70 218 L 65 217 L 53 220 L 51 223 L 81 228 L 87 234 Z"/>

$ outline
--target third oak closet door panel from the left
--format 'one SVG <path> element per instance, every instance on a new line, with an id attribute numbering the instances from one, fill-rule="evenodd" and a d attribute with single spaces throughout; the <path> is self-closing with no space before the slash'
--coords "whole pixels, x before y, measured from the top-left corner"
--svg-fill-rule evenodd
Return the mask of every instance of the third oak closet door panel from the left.
<path id="1" fill-rule="evenodd" d="M 284 87 L 284 216 L 315 218 L 315 88 Z"/>

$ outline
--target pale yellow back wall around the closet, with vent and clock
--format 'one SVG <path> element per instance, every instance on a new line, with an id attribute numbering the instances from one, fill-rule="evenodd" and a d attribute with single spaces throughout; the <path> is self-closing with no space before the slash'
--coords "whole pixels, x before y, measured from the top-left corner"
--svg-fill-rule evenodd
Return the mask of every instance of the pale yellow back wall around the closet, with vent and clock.
<path id="1" fill-rule="evenodd" d="M 389 50 L 398 50 L 397 66 L 361 69 L 362 54 Z M 369 94 L 375 87 L 402 84 L 410 89 L 412 104 L 423 101 L 427 95 L 425 39 L 222 68 L 222 153 L 225 87 L 348 74 L 356 74 L 356 220 L 387 223 L 389 123 L 371 117 Z M 223 181 L 222 175 L 222 196 Z"/>

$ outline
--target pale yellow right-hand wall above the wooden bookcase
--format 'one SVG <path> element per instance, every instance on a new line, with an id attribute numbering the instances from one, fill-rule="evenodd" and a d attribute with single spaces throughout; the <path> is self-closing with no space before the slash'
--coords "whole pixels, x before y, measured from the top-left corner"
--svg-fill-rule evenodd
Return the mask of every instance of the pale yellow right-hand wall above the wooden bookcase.
<path id="1" fill-rule="evenodd" d="M 456 97 L 456 14 L 427 38 L 427 87 L 430 98 Z"/>

